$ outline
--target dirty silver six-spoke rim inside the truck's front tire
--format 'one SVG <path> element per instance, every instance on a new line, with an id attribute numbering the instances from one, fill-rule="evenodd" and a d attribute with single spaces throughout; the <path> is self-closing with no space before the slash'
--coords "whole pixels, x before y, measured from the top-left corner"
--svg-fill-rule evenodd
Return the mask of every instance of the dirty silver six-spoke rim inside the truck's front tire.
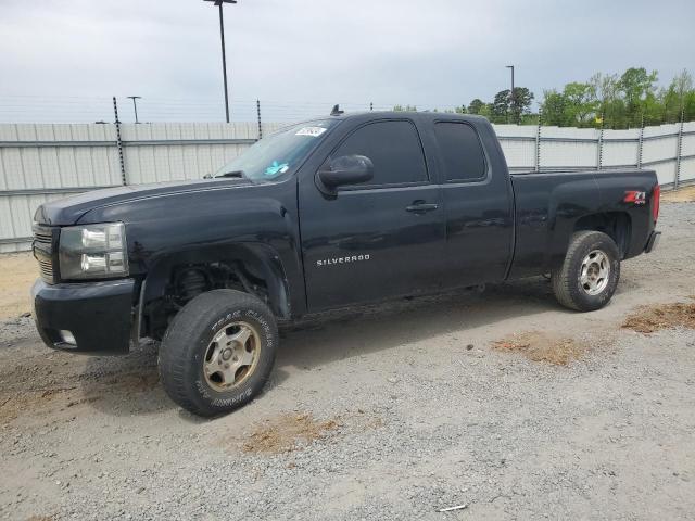
<path id="1" fill-rule="evenodd" d="M 261 354 L 261 336 L 249 322 L 230 322 L 207 345 L 203 373 L 215 391 L 229 391 L 253 373 Z"/>

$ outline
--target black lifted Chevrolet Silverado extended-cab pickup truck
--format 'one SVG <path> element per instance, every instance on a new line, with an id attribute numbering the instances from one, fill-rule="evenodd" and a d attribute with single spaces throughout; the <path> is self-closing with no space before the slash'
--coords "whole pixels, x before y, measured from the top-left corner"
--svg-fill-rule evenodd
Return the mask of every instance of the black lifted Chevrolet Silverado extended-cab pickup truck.
<path id="1" fill-rule="evenodd" d="M 168 395 L 214 416 L 261 391 L 277 323 L 307 314 L 545 274 L 560 304 L 598 309 L 658 211 L 652 170 L 510 175 L 481 117 L 333 115 L 208 179 L 40 206 L 36 323 L 72 352 L 161 341 Z"/>

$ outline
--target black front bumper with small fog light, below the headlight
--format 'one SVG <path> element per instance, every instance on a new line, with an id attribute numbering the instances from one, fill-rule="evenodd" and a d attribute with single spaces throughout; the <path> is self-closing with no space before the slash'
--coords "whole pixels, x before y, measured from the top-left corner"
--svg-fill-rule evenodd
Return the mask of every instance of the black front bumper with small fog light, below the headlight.
<path id="1" fill-rule="evenodd" d="M 39 279 L 31 288 L 36 327 L 55 350 L 124 355 L 130 350 L 134 291 L 132 279 L 55 285 Z"/>

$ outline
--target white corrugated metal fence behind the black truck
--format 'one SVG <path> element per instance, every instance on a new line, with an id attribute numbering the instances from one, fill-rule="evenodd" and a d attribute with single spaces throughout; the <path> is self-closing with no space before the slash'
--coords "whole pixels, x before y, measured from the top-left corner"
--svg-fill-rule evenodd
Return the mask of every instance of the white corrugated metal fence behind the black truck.
<path id="1" fill-rule="evenodd" d="M 279 124 L 263 124 L 269 134 Z M 199 179 L 250 147 L 257 124 L 0 125 L 0 253 L 30 247 L 38 205 L 119 185 Z M 513 171 L 643 167 L 695 180 L 695 122 L 644 129 L 496 125 Z M 121 148 L 118 147 L 121 142 Z M 123 157 L 123 164 L 121 163 Z"/>

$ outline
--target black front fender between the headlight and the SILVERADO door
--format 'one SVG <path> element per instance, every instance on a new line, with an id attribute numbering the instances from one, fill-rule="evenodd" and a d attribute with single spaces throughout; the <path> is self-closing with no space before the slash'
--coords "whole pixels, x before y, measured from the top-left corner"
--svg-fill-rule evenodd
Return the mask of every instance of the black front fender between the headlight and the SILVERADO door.
<path id="1" fill-rule="evenodd" d="M 175 265 L 243 260 L 267 281 L 279 317 L 304 313 L 293 178 L 154 195 L 101 206 L 80 218 L 80 223 L 104 221 L 126 225 L 130 276 L 141 282 L 141 309 L 164 294 Z"/>

